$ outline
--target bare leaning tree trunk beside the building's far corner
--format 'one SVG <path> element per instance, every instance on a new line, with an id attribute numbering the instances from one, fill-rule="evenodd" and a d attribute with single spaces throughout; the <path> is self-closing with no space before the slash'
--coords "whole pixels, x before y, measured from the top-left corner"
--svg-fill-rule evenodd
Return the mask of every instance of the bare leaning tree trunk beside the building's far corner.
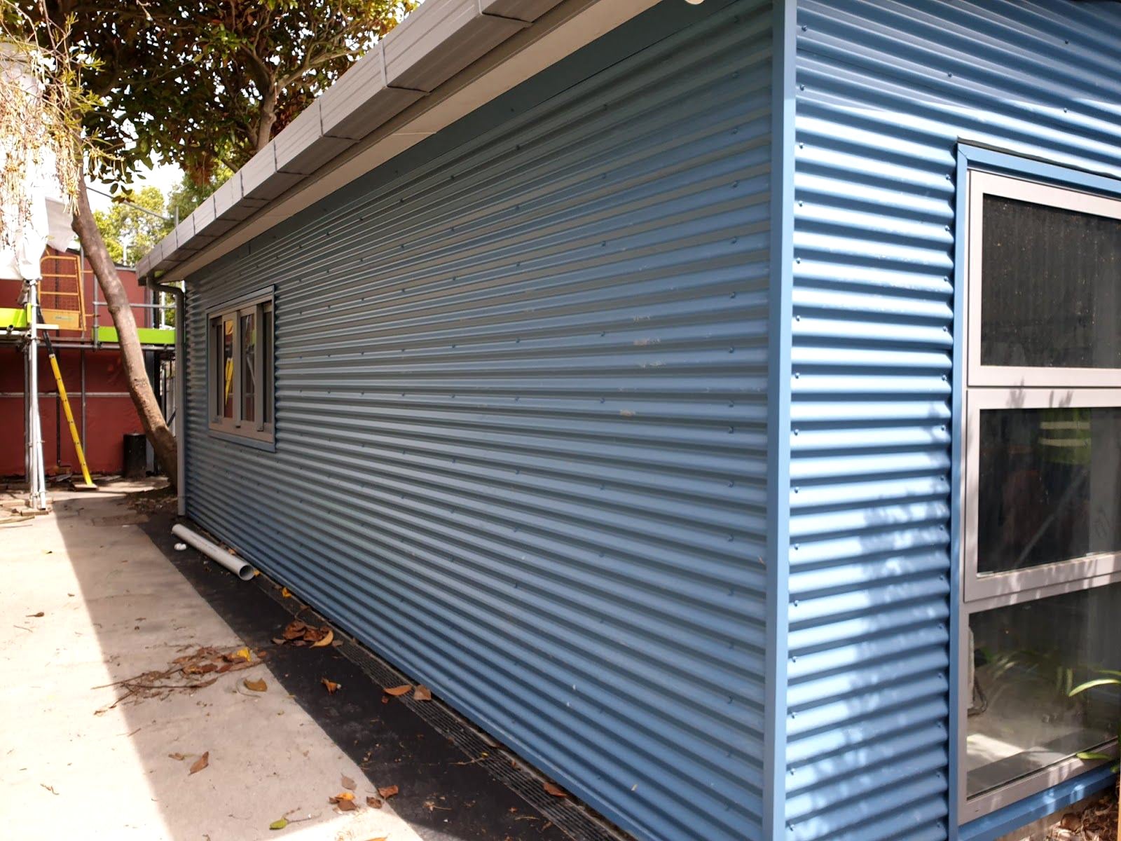
<path id="1" fill-rule="evenodd" d="M 132 306 L 129 304 L 129 296 L 117 274 L 117 267 L 109 257 L 109 249 L 98 230 L 98 224 L 93 220 L 90 210 L 90 197 L 85 192 L 85 181 L 77 179 L 78 188 L 74 212 L 73 228 L 82 240 L 85 256 L 93 267 L 94 277 L 105 295 L 105 303 L 109 313 L 113 317 L 113 326 L 117 327 L 117 339 L 121 349 L 121 361 L 124 363 L 124 376 L 128 379 L 129 395 L 132 397 L 132 405 L 136 406 L 140 416 L 140 424 L 143 433 L 151 442 L 151 449 L 156 451 L 160 466 L 167 473 L 173 486 L 178 486 L 179 478 L 176 474 L 178 462 L 175 459 L 175 435 L 164 420 L 164 413 L 159 409 L 156 395 L 151 390 L 151 382 L 148 380 L 148 371 L 145 368 L 143 350 L 140 348 L 140 338 L 137 335 L 137 321 L 132 315 Z"/>

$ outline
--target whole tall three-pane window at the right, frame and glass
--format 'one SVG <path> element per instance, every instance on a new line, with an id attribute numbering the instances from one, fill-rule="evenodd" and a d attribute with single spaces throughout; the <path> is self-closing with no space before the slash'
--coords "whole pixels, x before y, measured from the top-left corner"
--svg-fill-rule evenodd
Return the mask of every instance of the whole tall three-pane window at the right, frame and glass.
<path id="1" fill-rule="evenodd" d="M 960 673 L 969 821 L 1112 750 L 1121 201 L 969 174 Z"/>

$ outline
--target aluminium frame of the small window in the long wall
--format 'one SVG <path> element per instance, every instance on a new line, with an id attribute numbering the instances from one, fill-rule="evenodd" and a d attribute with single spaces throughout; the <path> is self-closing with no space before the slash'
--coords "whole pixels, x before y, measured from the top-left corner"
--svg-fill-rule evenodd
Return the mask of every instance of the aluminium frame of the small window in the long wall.
<path id="1" fill-rule="evenodd" d="M 272 314 L 272 336 L 268 342 L 263 335 L 263 315 Z M 243 417 L 242 391 L 242 335 L 241 320 L 245 315 L 253 316 L 258 331 L 257 353 L 253 364 L 253 379 L 257 391 L 253 400 L 253 419 Z M 233 322 L 233 417 L 225 417 L 222 401 L 219 398 L 219 386 L 222 383 L 222 330 L 226 321 Z M 270 351 L 265 359 L 265 349 Z M 270 376 L 266 376 L 267 367 L 271 366 Z M 206 410 L 210 433 L 226 441 L 234 441 L 258 447 L 272 449 L 276 443 L 276 294 L 274 287 L 258 290 L 250 295 L 225 302 L 206 312 Z M 266 394 L 266 383 L 272 388 Z M 268 417 L 268 420 L 266 420 Z"/>

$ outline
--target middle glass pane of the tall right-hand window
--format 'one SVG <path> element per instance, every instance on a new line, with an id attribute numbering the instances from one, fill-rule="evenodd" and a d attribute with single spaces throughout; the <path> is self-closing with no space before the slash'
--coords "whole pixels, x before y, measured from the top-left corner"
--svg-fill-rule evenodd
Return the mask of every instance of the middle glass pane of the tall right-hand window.
<path id="1" fill-rule="evenodd" d="M 981 412 L 978 573 L 1121 551 L 1121 409 Z"/>

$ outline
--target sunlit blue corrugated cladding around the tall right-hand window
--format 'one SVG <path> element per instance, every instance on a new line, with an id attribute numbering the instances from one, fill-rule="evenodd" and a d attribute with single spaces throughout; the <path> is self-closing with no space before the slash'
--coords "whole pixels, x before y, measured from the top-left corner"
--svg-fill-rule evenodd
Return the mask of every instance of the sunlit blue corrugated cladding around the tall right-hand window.
<path id="1" fill-rule="evenodd" d="M 787 835 L 944 839 L 958 138 L 1121 175 L 1121 4 L 799 0 Z"/>

